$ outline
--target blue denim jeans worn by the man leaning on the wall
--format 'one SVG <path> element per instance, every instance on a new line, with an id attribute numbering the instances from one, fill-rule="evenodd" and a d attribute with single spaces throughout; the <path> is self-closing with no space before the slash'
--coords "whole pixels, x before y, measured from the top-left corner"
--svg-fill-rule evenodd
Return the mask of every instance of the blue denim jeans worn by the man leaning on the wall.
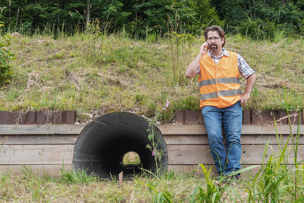
<path id="1" fill-rule="evenodd" d="M 219 175 L 241 169 L 242 107 L 240 101 L 226 108 L 204 106 L 202 114 L 208 133 L 208 142 Z M 224 123 L 226 149 L 223 144 Z"/>

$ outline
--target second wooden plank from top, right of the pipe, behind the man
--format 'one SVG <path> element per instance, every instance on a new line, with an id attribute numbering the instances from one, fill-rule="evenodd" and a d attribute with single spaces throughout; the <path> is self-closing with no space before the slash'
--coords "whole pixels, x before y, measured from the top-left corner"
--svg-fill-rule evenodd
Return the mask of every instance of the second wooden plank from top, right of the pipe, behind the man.
<path id="1" fill-rule="evenodd" d="M 208 145 L 208 135 L 162 135 L 167 145 Z M 282 135 L 283 143 L 286 143 L 289 135 Z M 294 141 L 296 140 L 295 137 Z M 269 142 L 268 142 L 269 140 Z M 225 135 L 223 143 L 226 144 Z M 276 135 L 241 135 L 241 144 L 278 144 Z M 279 143 L 281 138 L 279 135 Z M 299 136 L 299 144 L 304 144 L 304 135 Z"/>

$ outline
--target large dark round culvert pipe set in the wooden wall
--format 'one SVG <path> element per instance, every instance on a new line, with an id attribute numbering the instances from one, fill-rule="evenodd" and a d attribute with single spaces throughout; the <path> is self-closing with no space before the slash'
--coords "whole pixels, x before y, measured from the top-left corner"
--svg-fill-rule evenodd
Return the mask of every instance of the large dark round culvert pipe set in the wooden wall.
<path id="1" fill-rule="evenodd" d="M 104 125 L 105 124 L 105 125 Z M 155 159 L 147 144 L 149 122 L 136 113 L 111 112 L 90 122 L 80 133 L 74 148 L 73 169 L 87 169 L 100 178 L 111 178 L 123 171 L 125 177 L 141 173 L 144 168 L 155 172 Z M 158 129 L 155 127 L 156 131 Z M 158 131 L 161 144 L 158 149 L 164 150 L 162 157 L 163 171 L 168 168 L 167 147 L 161 133 Z M 140 163 L 125 165 L 123 157 L 128 152 L 139 155 Z"/>

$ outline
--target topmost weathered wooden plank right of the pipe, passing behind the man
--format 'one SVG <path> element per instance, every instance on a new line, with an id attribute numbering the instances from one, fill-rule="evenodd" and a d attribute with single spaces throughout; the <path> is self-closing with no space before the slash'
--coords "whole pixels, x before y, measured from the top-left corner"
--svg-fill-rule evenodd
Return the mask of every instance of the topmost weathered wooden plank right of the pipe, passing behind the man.
<path id="1" fill-rule="evenodd" d="M 205 125 L 156 125 L 162 135 L 207 135 Z M 297 133 L 297 126 L 294 126 L 293 134 Z M 224 129 L 222 129 L 224 132 Z M 289 125 L 277 125 L 278 134 L 289 135 Z M 276 134 L 275 125 L 242 125 L 241 134 L 262 135 Z M 304 125 L 300 125 L 300 134 L 304 134 Z"/>

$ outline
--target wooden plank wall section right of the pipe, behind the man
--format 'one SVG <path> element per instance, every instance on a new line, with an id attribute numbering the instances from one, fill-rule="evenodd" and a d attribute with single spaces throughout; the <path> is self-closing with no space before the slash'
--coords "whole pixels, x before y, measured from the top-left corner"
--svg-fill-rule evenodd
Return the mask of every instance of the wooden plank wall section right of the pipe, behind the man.
<path id="1" fill-rule="evenodd" d="M 167 144 L 168 149 L 168 170 L 195 172 L 198 164 L 213 164 L 213 158 L 209 151 L 208 136 L 204 125 L 159 125 L 157 126 Z M 294 126 L 293 134 L 297 133 L 297 126 Z M 298 161 L 304 160 L 304 125 L 300 125 L 300 138 L 298 146 Z M 224 131 L 222 131 L 224 133 Z M 282 134 L 285 144 L 290 134 L 289 125 L 277 125 L 278 134 Z M 224 136 L 224 143 L 226 143 Z M 267 157 L 271 153 L 279 152 L 279 146 L 274 125 L 242 125 L 241 131 L 241 165 L 242 168 L 262 163 L 265 144 L 269 143 Z M 281 142 L 280 142 L 281 143 Z M 294 157 L 291 140 L 287 153 Z M 287 154 L 286 153 L 286 154 Z M 293 163 L 292 158 L 289 158 Z M 215 167 L 213 167 L 215 169 Z M 259 170 L 256 168 L 252 172 Z"/>

